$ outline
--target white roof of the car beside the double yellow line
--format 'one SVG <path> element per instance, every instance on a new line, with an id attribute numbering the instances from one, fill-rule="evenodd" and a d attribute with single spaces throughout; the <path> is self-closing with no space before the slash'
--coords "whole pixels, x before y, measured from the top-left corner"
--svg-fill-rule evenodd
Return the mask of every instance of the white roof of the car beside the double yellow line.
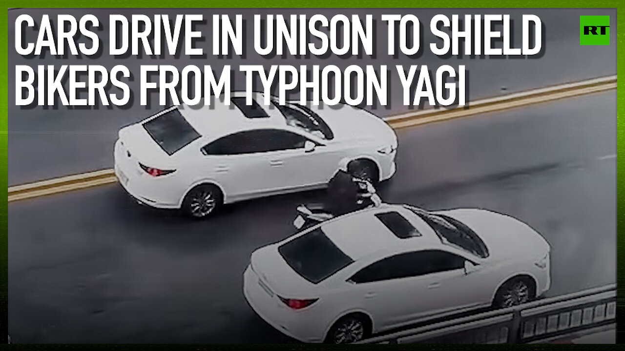
<path id="1" fill-rule="evenodd" d="M 245 96 L 245 92 L 242 91 L 232 92 L 231 99 Z M 269 106 L 264 105 L 264 94 L 254 92 L 252 93 L 252 99 L 264 109 L 268 117 L 249 118 L 234 102 L 231 101 L 229 106 L 226 105 L 223 96 L 209 97 L 209 104 L 198 106 L 183 104 L 178 107 L 178 110 L 199 134 L 208 139 L 215 139 L 233 132 L 249 129 L 283 129 L 286 127 L 286 119 L 282 116 L 282 112 L 273 104 Z"/>

